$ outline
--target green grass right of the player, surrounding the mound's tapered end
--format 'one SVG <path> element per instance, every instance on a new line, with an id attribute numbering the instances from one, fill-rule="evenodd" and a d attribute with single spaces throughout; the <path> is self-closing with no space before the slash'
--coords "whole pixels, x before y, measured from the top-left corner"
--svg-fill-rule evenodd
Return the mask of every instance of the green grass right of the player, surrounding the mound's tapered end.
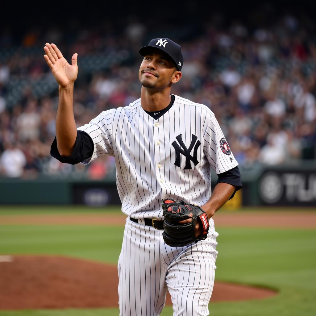
<path id="1" fill-rule="evenodd" d="M 273 298 L 216 303 L 214 315 L 314 315 L 316 231 L 221 228 L 216 277 L 279 290 Z"/>

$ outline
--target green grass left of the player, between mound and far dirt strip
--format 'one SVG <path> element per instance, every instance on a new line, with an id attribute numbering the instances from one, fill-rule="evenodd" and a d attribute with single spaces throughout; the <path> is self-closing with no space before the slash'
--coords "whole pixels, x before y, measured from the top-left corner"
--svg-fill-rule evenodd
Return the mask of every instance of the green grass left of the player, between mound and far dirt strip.
<path id="1" fill-rule="evenodd" d="M 60 254 L 116 264 L 122 226 L 0 226 L 0 254 Z"/>

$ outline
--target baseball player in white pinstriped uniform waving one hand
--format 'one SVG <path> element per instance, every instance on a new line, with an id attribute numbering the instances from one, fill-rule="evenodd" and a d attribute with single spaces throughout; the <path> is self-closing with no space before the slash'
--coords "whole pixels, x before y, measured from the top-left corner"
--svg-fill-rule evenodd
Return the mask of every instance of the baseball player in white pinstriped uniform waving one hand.
<path id="1" fill-rule="evenodd" d="M 218 253 L 212 216 L 241 181 L 214 113 L 171 94 L 182 76 L 181 46 L 157 38 L 141 47 L 140 98 L 79 128 L 73 115 L 77 54 L 70 65 L 55 44 L 44 50 L 59 84 L 51 155 L 83 165 L 104 154 L 115 158 L 127 216 L 118 262 L 120 315 L 159 315 L 167 289 L 173 315 L 209 315 Z M 211 168 L 218 175 L 212 193 Z"/>

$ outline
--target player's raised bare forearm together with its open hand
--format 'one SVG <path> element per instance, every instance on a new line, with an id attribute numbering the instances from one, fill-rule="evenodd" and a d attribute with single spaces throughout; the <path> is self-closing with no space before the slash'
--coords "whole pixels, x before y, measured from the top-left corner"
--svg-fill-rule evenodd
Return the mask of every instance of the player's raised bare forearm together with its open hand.
<path id="1" fill-rule="evenodd" d="M 73 54 L 71 65 L 55 44 L 46 43 L 44 58 L 59 84 L 59 102 L 56 115 L 57 147 L 61 156 L 68 157 L 75 146 L 77 129 L 73 111 L 74 82 L 78 75 L 77 56 Z"/>

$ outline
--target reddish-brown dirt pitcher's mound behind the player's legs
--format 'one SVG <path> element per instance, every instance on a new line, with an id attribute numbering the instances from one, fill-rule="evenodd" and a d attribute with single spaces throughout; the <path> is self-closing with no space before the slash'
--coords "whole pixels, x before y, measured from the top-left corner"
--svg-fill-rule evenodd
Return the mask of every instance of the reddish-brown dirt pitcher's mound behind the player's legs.
<path id="1" fill-rule="evenodd" d="M 115 265 L 61 256 L 0 257 L 0 309 L 118 306 Z M 268 289 L 216 282 L 211 301 L 272 295 Z M 166 304 L 171 305 L 169 294 Z"/>

